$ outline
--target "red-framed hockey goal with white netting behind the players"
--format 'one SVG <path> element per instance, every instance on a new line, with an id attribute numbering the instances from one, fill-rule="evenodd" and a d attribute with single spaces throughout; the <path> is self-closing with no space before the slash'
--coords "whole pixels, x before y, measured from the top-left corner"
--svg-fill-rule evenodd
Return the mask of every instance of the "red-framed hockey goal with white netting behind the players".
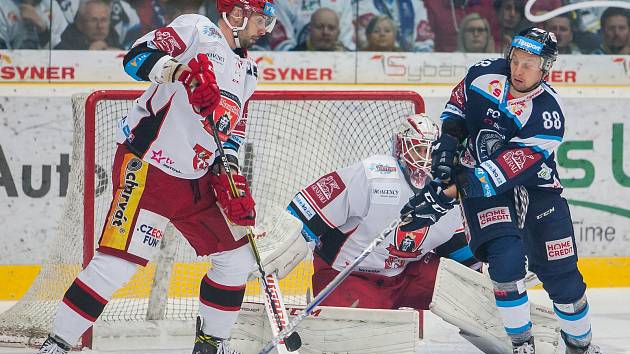
<path id="1" fill-rule="evenodd" d="M 111 163 L 117 121 L 141 91 L 97 91 L 72 99 L 72 171 L 58 236 L 41 271 L 20 301 L 0 315 L 0 343 L 38 345 L 50 331 L 60 299 L 94 253 L 111 202 Z M 401 118 L 424 112 L 421 97 L 399 91 L 259 91 L 246 107 L 243 173 L 251 183 L 258 217 L 284 207 L 310 181 L 372 154 L 390 151 Z M 129 331 L 134 324 L 191 321 L 199 282 L 210 266 L 168 227 L 161 252 L 115 295 L 97 321 Z M 280 282 L 287 306 L 304 305 L 312 265 L 302 262 Z M 245 301 L 262 303 L 257 282 Z M 187 327 L 187 331 L 192 331 Z M 87 339 L 86 339 L 87 338 Z M 84 338 L 90 344 L 91 333 Z"/>

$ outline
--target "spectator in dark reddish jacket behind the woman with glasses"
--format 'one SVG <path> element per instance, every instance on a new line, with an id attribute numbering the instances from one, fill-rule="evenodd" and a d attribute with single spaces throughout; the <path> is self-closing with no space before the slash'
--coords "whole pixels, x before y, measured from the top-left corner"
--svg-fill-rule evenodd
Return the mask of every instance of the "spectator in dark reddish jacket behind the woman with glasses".
<path id="1" fill-rule="evenodd" d="M 457 35 L 464 16 L 476 12 L 490 21 L 492 33 L 497 32 L 496 13 L 492 0 L 431 0 L 425 1 L 429 23 L 435 33 L 436 52 L 454 52 Z"/>

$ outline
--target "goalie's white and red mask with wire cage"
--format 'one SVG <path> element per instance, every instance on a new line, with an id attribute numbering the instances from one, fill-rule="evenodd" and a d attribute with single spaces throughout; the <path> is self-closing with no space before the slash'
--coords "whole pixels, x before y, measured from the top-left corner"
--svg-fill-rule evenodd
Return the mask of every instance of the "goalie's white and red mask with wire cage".
<path id="1" fill-rule="evenodd" d="M 437 124 L 423 113 L 407 117 L 394 136 L 394 157 L 416 188 L 422 188 L 430 176 L 431 144 L 439 134 Z"/>

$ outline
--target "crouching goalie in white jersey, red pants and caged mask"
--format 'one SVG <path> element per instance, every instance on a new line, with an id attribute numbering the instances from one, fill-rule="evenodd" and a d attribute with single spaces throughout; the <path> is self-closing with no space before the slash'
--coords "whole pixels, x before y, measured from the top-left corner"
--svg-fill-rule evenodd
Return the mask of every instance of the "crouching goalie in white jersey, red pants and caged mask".
<path id="1" fill-rule="evenodd" d="M 300 190 L 288 210 L 316 242 L 313 290 L 319 293 L 400 213 L 429 176 L 431 143 L 439 133 L 426 115 L 405 119 L 394 154 L 375 155 L 328 173 Z M 409 232 L 396 229 L 323 302 L 329 306 L 426 310 L 439 256 L 479 268 L 461 215 Z"/>

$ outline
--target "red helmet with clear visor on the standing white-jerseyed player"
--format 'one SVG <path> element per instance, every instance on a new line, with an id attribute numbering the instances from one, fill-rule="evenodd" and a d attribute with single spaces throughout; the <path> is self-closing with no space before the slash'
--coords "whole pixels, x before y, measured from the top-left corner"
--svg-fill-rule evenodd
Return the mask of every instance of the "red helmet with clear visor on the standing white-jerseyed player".
<path id="1" fill-rule="evenodd" d="M 243 24 L 239 27 L 234 26 L 227 18 L 234 7 L 240 7 L 243 10 Z M 276 24 L 276 8 L 273 0 L 217 0 L 217 11 L 232 29 L 237 48 L 241 47 L 238 40 L 238 32 L 245 29 L 253 13 L 262 16 L 267 33 L 271 33 Z"/>

